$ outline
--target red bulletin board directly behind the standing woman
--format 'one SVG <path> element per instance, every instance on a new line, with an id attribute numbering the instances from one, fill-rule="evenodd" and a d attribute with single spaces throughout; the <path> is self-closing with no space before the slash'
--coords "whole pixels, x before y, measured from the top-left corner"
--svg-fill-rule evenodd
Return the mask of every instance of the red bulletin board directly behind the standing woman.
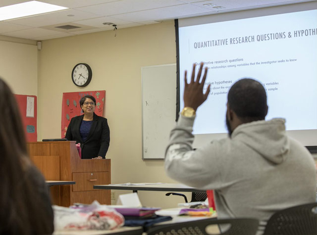
<path id="1" fill-rule="evenodd" d="M 96 99 L 95 113 L 98 116 L 104 115 L 104 104 L 106 103 L 106 91 L 92 92 L 68 92 L 63 93 L 61 105 L 61 138 L 65 138 L 67 127 L 73 117 L 83 115 L 83 110 L 80 107 L 79 100 L 90 94 Z"/>

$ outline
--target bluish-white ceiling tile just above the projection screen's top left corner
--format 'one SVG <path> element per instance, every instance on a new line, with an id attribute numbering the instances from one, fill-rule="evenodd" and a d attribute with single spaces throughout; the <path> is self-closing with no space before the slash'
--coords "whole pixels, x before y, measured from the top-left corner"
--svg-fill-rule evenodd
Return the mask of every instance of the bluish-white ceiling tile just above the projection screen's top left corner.
<path id="1" fill-rule="evenodd" d="M 211 12 L 211 10 L 192 4 L 184 4 L 178 6 L 169 6 L 152 10 L 119 14 L 114 15 L 112 17 L 122 20 L 133 20 L 134 22 L 143 22 L 152 20 L 175 19 L 179 17 L 186 17 L 188 15 L 203 14 L 208 12 Z"/>

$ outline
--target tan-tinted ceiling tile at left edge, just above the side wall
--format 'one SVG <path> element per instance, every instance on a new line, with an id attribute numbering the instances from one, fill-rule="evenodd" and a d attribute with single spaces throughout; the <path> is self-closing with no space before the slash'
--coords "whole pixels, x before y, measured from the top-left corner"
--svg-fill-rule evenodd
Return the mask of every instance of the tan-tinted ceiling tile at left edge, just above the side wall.
<path id="1" fill-rule="evenodd" d="M 16 37 L 16 38 L 31 39 L 31 38 L 39 38 L 39 37 L 58 35 L 58 34 L 62 34 L 62 33 L 52 31 L 52 30 L 47 30 L 47 29 L 41 29 L 41 28 L 31 28 L 26 30 L 3 33 L 2 35 Z"/>

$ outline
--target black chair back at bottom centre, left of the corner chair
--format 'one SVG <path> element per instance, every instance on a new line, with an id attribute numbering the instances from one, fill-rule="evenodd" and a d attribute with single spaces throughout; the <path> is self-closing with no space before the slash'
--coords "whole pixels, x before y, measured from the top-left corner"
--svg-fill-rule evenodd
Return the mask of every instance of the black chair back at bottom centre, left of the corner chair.
<path id="1" fill-rule="evenodd" d="M 176 224 L 158 225 L 148 230 L 147 235 L 208 235 L 210 225 L 229 226 L 219 235 L 255 235 L 259 220 L 254 218 L 206 219 Z"/>

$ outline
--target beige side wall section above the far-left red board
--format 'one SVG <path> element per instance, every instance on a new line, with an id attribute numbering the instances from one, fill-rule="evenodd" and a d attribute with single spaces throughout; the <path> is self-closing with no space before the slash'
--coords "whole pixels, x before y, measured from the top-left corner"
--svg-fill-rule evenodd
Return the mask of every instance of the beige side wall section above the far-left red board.
<path id="1" fill-rule="evenodd" d="M 38 95 L 37 46 L 20 42 L 0 41 L 0 77 L 15 94 Z"/>

